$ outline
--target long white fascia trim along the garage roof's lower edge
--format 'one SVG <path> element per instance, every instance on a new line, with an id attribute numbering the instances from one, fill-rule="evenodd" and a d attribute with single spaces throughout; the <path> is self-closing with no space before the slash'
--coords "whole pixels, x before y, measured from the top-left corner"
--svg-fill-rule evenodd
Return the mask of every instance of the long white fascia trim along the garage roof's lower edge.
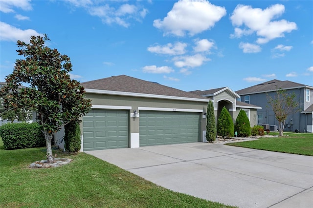
<path id="1" fill-rule="evenodd" d="M 158 99 L 181 100 L 181 101 L 199 101 L 199 102 L 205 102 L 205 103 L 209 102 L 209 99 L 201 99 L 201 98 L 186 98 L 186 97 L 176 97 L 176 96 L 168 96 L 168 95 L 154 95 L 154 94 L 144 94 L 144 93 L 135 93 L 135 92 L 101 90 L 101 89 L 85 89 L 85 92 L 95 93 L 95 94 L 124 95 L 124 96 L 143 97 L 143 98 L 158 98 Z"/>

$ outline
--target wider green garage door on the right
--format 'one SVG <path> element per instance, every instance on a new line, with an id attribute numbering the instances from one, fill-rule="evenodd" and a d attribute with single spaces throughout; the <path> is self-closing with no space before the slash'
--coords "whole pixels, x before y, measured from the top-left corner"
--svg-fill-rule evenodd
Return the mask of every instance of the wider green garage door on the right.
<path id="1" fill-rule="evenodd" d="M 169 145 L 200 141 L 200 113 L 140 111 L 139 145 Z"/>

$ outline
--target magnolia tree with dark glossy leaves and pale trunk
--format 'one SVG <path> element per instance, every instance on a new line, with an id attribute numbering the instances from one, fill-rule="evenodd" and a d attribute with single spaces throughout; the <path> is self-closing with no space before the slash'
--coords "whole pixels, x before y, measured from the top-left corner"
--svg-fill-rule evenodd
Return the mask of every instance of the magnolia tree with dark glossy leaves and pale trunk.
<path id="1" fill-rule="evenodd" d="M 86 115 L 91 101 L 85 99 L 80 83 L 71 80 L 72 64 L 67 55 L 45 45 L 50 39 L 32 36 L 30 43 L 18 41 L 17 50 L 24 59 L 15 62 L 13 73 L 5 79 L 0 95 L 6 109 L 26 108 L 37 113 L 43 126 L 47 162 L 53 163 L 51 150 L 53 134 L 71 121 Z M 21 88 L 24 84 L 26 87 Z"/>

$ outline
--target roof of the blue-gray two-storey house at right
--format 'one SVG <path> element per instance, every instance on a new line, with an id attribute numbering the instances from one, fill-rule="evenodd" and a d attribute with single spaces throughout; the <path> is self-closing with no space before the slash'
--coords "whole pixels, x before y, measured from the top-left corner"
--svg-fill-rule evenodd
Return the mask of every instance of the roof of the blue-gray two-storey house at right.
<path id="1" fill-rule="evenodd" d="M 246 94 L 254 94 L 254 93 L 261 93 L 261 92 L 269 92 L 269 91 L 276 91 L 277 89 L 295 89 L 295 88 L 310 88 L 313 89 L 313 86 L 294 83 L 291 81 L 280 81 L 280 80 L 271 80 L 265 83 L 260 83 L 254 86 L 247 87 L 245 89 L 241 89 L 236 91 L 239 95 L 246 95 Z"/>

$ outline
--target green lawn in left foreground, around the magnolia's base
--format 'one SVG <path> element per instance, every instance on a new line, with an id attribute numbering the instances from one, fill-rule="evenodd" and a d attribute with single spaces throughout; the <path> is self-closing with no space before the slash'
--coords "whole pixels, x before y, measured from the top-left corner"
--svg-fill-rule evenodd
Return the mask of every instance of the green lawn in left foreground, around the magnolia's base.
<path id="1" fill-rule="evenodd" d="M 45 159 L 45 148 L 1 148 L 0 207 L 231 208 L 156 186 L 85 153 L 62 154 L 57 157 L 73 161 L 62 167 L 30 169 L 32 162 Z"/>

